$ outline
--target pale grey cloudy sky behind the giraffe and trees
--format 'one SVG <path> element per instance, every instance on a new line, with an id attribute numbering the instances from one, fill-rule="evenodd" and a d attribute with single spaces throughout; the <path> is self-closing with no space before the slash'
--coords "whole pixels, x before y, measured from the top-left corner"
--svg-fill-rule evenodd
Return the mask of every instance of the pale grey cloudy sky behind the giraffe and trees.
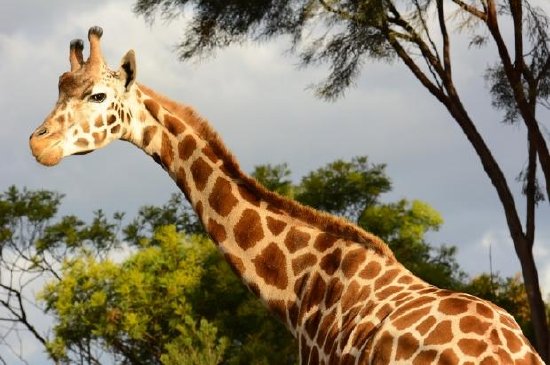
<path id="1" fill-rule="evenodd" d="M 245 171 L 286 162 L 298 182 L 336 159 L 368 155 L 372 163 L 387 165 L 393 182 L 384 201 L 419 199 L 441 213 L 445 223 L 429 234 L 429 242 L 456 245 L 459 264 L 469 275 L 489 271 L 489 246 L 493 271 L 505 276 L 520 271 L 503 209 L 478 157 L 444 108 L 402 64 L 366 63 L 344 98 L 325 102 L 308 86 L 321 81 L 326 69 L 297 67 L 286 39 L 230 47 L 213 59 L 181 63 L 174 49 L 185 37 L 183 20 L 150 24 L 132 12 L 133 3 L 0 0 L 0 191 L 10 185 L 58 191 L 65 194 L 61 214 L 84 218 L 98 209 L 133 217 L 139 207 L 161 205 L 178 191 L 152 159 L 129 143 L 68 157 L 55 168 L 39 165 L 30 153 L 28 137 L 53 108 L 58 77 L 69 69 L 70 40 L 86 39 L 88 28 L 100 25 L 111 68 L 134 49 L 138 81 L 193 105 Z M 539 4 L 550 14 L 550 3 Z M 506 25 L 503 29 L 510 33 Z M 526 163 L 525 129 L 500 123 L 502 115 L 492 109 L 483 79 L 496 53 L 490 46 L 468 49 L 464 40 L 455 45 L 458 90 L 523 217 L 515 177 Z M 540 116 L 550 130 L 549 113 Z M 543 202 L 537 210 L 535 256 L 545 295 L 550 293 L 549 222 L 549 204 Z M 39 346 L 25 349 L 40 358 Z"/>

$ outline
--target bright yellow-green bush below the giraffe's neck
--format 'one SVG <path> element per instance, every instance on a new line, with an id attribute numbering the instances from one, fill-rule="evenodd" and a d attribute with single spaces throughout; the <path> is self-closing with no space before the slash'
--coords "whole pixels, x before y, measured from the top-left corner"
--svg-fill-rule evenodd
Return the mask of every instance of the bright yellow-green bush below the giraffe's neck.
<path id="1" fill-rule="evenodd" d="M 129 363 L 218 363 L 228 340 L 206 319 L 194 321 L 190 299 L 214 248 L 198 236 L 183 242 L 173 226 L 150 241 L 122 264 L 77 256 L 44 288 L 46 310 L 57 318 L 53 358 L 92 343 Z"/>

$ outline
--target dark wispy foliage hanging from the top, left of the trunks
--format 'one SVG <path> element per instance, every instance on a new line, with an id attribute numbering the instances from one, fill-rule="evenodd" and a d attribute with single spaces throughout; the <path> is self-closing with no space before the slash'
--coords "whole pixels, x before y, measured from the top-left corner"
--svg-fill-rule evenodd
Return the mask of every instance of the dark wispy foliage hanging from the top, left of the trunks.
<path id="1" fill-rule="evenodd" d="M 134 6 L 149 20 L 156 13 L 173 19 L 189 9 L 186 36 L 178 44 L 181 60 L 200 59 L 246 39 L 289 35 L 303 65 L 330 65 L 329 76 L 317 86 L 329 99 L 353 83 L 366 58 L 394 57 L 385 34 L 385 1 L 138 0 Z M 319 27 L 322 32 L 312 31 Z"/>

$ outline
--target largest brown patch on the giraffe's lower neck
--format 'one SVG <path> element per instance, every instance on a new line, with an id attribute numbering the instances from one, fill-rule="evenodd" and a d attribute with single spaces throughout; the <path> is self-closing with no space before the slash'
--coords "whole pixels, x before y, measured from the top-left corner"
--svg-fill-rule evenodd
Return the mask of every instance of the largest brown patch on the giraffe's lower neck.
<path id="1" fill-rule="evenodd" d="M 285 289 L 288 285 L 286 274 L 286 257 L 277 244 L 271 242 L 262 252 L 252 259 L 256 273 L 266 284 L 279 289 Z"/>

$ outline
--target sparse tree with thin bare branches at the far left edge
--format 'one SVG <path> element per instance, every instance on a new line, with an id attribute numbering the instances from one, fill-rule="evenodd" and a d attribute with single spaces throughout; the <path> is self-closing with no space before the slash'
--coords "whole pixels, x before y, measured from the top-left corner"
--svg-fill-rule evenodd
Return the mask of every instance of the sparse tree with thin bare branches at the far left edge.
<path id="1" fill-rule="evenodd" d="M 24 360 L 10 342 L 20 341 L 18 333 L 28 331 L 46 346 L 46 331 L 31 320 L 30 313 L 41 310 L 35 288 L 42 280 L 59 280 L 59 267 L 76 249 L 101 256 L 117 247 L 117 230 L 122 215 L 108 220 L 101 211 L 89 224 L 75 216 L 57 219 L 62 195 L 51 191 L 19 190 L 11 186 L 0 194 L 0 345 L 4 355 Z M 55 358 L 54 358 L 55 359 Z"/>

